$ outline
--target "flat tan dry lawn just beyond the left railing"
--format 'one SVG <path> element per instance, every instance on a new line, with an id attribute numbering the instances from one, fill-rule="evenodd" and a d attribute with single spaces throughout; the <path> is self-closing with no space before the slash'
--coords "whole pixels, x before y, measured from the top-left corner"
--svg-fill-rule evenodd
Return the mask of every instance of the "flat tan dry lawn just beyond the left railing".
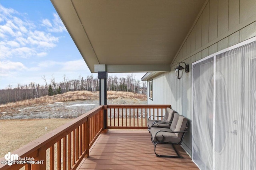
<path id="1" fill-rule="evenodd" d="M 0 120 L 0 157 L 64 125 L 71 119 Z M 47 130 L 45 130 L 47 127 Z"/>

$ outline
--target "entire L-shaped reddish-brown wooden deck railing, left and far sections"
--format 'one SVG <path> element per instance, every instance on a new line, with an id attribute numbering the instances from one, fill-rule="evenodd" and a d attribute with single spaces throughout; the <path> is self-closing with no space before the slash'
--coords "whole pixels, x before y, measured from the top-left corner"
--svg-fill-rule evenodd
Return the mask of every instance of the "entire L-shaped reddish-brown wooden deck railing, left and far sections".
<path id="1" fill-rule="evenodd" d="M 146 129 L 150 115 L 163 116 L 170 105 L 106 105 L 99 106 L 50 133 L 12 152 L 28 158 L 7 165 L 1 158 L 1 170 L 75 170 L 102 133 L 104 110 L 107 129 Z M 31 159 L 30 159 L 31 158 Z M 30 162 L 29 162 L 30 161 Z M 34 161 L 34 162 L 33 162 Z"/>

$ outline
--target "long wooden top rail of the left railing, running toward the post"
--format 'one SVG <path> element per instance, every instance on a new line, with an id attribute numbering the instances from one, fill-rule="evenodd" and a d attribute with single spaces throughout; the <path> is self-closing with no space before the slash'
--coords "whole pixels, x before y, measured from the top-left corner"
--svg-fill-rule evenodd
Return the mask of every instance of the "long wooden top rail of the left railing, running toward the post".
<path id="1" fill-rule="evenodd" d="M 84 113 L 83 115 L 73 119 L 72 121 L 54 129 L 53 131 L 43 135 L 42 137 L 39 137 L 38 139 L 24 145 L 23 147 L 15 150 L 12 152 L 13 154 L 18 154 L 19 157 L 25 157 L 36 150 L 38 150 L 40 147 L 44 145 L 52 145 L 56 143 L 58 140 L 62 139 L 62 136 L 68 135 L 71 131 L 73 131 L 78 125 L 81 125 L 85 121 L 87 121 L 88 118 L 92 117 L 98 111 L 102 110 L 104 106 L 98 106 L 87 113 Z M 0 160 L 5 160 L 4 157 L 0 158 Z"/>

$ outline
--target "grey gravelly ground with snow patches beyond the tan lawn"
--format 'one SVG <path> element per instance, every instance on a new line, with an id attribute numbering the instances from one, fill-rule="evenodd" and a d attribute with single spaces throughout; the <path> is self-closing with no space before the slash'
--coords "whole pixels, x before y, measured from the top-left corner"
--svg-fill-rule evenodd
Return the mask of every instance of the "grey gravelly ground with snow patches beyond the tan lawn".
<path id="1" fill-rule="evenodd" d="M 108 99 L 108 104 L 147 104 L 137 99 L 117 98 Z M 56 102 L 53 104 L 34 104 L 6 108 L 0 113 L 0 119 L 49 119 L 75 118 L 99 106 L 98 100 L 77 100 Z"/>

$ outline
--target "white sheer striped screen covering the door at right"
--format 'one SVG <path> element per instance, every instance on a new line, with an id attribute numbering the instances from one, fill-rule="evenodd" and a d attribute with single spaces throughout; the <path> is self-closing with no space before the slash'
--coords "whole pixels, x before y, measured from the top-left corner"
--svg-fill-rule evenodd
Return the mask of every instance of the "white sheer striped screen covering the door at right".
<path id="1" fill-rule="evenodd" d="M 192 64 L 192 160 L 256 169 L 256 41 Z"/>

